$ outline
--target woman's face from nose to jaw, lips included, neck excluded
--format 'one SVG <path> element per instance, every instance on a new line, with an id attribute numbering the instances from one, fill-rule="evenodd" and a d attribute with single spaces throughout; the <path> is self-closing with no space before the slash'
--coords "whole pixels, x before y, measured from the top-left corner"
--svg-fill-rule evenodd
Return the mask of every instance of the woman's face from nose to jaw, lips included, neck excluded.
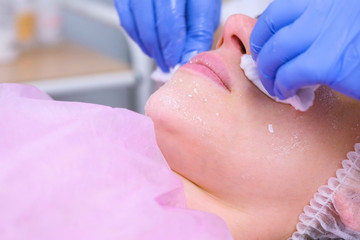
<path id="1" fill-rule="evenodd" d="M 337 119 L 323 110 L 339 99 L 320 89 L 315 106 L 302 113 L 261 93 L 239 66 L 241 56 L 250 54 L 255 22 L 230 17 L 217 49 L 181 67 L 152 95 L 146 113 L 173 171 L 243 211 L 295 211 L 281 220 L 295 224 L 344 157 L 332 153 L 339 159 L 322 161 L 329 157 L 322 149 L 336 144 L 324 134 L 342 138 Z"/>

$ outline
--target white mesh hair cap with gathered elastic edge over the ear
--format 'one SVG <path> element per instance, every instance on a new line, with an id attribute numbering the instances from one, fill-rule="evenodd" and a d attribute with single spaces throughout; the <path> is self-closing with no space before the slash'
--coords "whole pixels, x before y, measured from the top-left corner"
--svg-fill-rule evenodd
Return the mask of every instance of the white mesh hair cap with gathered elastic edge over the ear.
<path id="1" fill-rule="evenodd" d="M 289 240 L 360 239 L 360 144 L 349 152 L 336 177 L 321 186 Z"/>

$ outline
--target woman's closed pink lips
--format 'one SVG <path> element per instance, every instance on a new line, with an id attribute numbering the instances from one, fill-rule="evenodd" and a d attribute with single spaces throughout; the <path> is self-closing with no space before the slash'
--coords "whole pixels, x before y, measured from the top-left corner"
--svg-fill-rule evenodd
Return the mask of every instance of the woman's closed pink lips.
<path id="1" fill-rule="evenodd" d="M 203 76 L 211 79 L 219 86 L 231 91 L 231 78 L 227 68 L 218 56 L 212 53 L 200 53 L 183 66 L 185 69 L 191 69 Z"/>

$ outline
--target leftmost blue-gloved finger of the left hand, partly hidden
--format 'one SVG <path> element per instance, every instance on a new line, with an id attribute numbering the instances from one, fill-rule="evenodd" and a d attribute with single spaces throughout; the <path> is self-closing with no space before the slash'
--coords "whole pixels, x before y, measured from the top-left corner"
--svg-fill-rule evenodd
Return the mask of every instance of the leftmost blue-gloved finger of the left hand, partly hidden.
<path id="1" fill-rule="evenodd" d="M 129 34 L 129 36 L 139 44 L 141 50 L 148 56 L 150 52 L 147 51 L 144 44 L 140 41 L 140 36 L 137 31 L 135 19 L 130 8 L 130 0 L 115 0 L 115 7 L 120 17 L 120 24 Z"/>

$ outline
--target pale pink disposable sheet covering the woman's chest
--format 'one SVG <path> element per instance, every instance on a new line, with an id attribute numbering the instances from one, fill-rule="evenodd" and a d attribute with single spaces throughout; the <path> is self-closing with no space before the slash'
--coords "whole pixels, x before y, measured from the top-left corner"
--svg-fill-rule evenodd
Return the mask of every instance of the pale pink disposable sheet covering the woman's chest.
<path id="1" fill-rule="evenodd" d="M 231 239 L 186 208 L 151 120 L 0 85 L 0 239 Z"/>

